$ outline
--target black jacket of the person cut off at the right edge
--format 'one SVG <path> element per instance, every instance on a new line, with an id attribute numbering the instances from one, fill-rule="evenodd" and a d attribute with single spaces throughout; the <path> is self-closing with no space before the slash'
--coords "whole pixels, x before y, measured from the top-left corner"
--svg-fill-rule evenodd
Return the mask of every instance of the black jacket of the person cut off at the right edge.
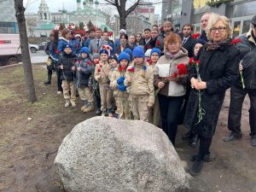
<path id="1" fill-rule="evenodd" d="M 246 89 L 256 89 L 256 42 L 252 30 L 238 37 L 241 42 L 236 44 L 240 50 L 243 79 Z M 236 85 L 241 87 L 241 77 L 236 80 Z"/>

